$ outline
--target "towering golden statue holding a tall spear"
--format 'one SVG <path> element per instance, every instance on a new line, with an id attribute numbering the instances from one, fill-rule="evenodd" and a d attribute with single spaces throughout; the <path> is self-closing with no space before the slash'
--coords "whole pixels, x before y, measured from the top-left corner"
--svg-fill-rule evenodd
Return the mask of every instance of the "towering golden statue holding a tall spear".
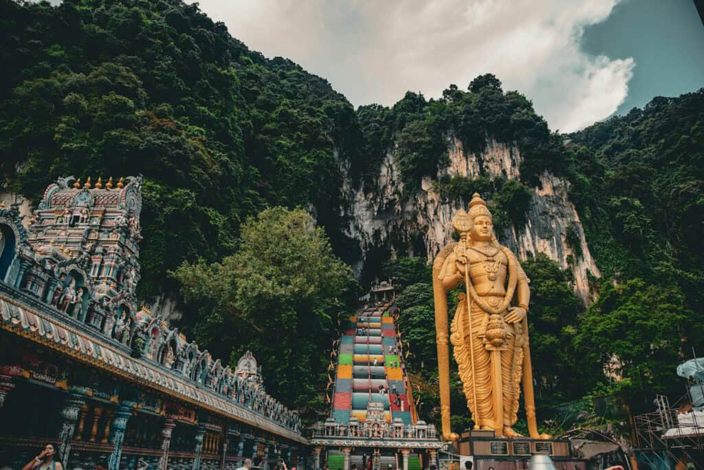
<path id="1" fill-rule="evenodd" d="M 460 242 L 441 249 L 433 263 L 443 437 L 458 438 L 450 429 L 448 343 L 452 342 L 474 429 L 519 436 L 511 426 L 517 419 L 522 382 L 530 437 L 549 438 L 536 425 L 526 320 L 529 280 L 515 254 L 496 240 L 491 212 L 479 194 L 474 193 L 469 213 L 461 209 L 455 215 L 453 227 Z M 448 341 L 447 292 L 460 282 L 465 293 L 458 296 Z"/>

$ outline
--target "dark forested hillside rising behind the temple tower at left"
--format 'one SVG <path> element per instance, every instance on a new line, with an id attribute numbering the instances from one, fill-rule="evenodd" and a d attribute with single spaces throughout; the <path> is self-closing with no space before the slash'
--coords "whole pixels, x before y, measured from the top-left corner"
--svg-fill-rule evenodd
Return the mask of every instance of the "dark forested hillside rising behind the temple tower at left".
<path id="1" fill-rule="evenodd" d="M 37 199 L 61 175 L 142 173 L 141 297 L 174 292 L 184 260 L 231 254 L 267 205 L 313 205 L 345 241 L 334 154 L 359 136 L 325 80 L 179 0 L 8 1 L 0 28 L 0 187 Z"/>

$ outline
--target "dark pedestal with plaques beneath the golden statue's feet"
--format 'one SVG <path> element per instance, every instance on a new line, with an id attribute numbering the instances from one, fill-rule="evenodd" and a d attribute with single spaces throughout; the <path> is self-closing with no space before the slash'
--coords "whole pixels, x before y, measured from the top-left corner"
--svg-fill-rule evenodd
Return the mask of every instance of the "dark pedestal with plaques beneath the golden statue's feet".
<path id="1" fill-rule="evenodd" d="M 455 450 L 472 457 L 472 470 L 524 470 L 534 454 L 549 455 L 558 470 L 586 470 L 586 460 L 574 457 L 566 439 L 496 438 L 494 431 L 469 431 L 462 433 Z"/>

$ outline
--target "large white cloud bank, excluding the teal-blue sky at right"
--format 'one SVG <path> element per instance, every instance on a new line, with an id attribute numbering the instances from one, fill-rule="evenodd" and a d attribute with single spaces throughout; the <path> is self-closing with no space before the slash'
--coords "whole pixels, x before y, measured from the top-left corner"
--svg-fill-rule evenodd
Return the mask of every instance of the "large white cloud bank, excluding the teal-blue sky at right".
<path id="1" fill-rule="evenodd" d="M 578 130 L 626 99 L 632 58 L 584 54 L 584 27 L 620 0 L 201 0 L 266 56 L 329 80 L 355 105 L 391 105 L 407 89 L 438 97 L 494 73 L 532 99 L 553 129 Z"/>

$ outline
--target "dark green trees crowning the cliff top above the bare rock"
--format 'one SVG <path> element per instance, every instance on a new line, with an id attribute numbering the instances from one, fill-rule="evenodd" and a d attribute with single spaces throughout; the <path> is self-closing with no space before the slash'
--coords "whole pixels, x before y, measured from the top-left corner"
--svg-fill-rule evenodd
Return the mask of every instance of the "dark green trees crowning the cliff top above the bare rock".
<path id="1" fill-rule="evenodd" d="M 519 92 L 503 92 L 501 80 L 490 73 L 472 80 L 468 92 L 451 85 L 441 99 L 426 100 L 407 92 L 391 109 L 361 106 L 357 111 L 365 132 L 365 155 L 353 161 L 356 174 L 378 174 L 384 154 L 394 151 L 406 197 L 420 190 L 423 177 L 436 178 L 446 166 L 448 143 L 456 137 L 465 151 L 479 153 L 494 139 L 517 144 L 528 161 L 525 181 L 534 183 L 546 169 L 560 170 L 562 141 L 550 135 L 532 103 Z M 479 175 L 482 178 L 484 175 Z"/>

